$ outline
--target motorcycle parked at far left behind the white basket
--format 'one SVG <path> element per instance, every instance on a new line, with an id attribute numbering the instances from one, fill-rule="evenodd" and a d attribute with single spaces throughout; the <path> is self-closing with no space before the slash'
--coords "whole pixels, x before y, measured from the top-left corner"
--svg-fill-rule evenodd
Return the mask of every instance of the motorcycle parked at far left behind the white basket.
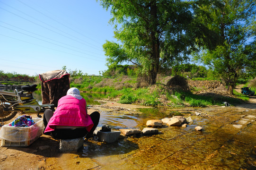
<path id="1" fill-rule="evenodd" d="M 39 112 L 46 109 L 54 110 L 54 104 L 39 104 L 34 98 L 33 92 L 37 85 L 23 85 L 21 91 L 14 92 L 0 90 L 0 121 L 3 122 L 15 117 L 17 113 L 35 113 L 42 118 Z"/>

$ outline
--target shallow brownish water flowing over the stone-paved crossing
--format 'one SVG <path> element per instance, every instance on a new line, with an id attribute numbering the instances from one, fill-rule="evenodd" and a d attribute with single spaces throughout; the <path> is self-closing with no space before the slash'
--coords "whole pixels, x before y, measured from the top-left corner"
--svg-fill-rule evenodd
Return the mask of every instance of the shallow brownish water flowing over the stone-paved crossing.
<path id="1" fill-rule="evenodd" d="M 88 105 L 104 94 L 82 94 Z M 40 100 L 40 99 L 38 99 Z M 93 107 L 92 107 L 93 108 Z M 99 109 L 98 126 L 143 129 L 147 120 L 189 117 L 187 127 L 159 128 L 157 135 L 137 135 L 106 144 L 89 139 L 78 153 L 46 159 L 54 170 L 256 170 L 256 110 L 246 107 Z M 196 114 L 196 113 L 201 114 Z M 198 115 L 198 116 L 196 116 Z M 194 127 L 203 127 L 196 131 Z M 47 167 L 45 168 L 47 169 Z"/>

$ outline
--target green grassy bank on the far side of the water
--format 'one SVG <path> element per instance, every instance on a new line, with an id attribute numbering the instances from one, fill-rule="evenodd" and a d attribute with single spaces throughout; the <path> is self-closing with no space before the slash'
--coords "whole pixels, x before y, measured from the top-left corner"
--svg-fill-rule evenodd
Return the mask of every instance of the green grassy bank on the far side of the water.
<path id="1" fill-rule="evenodd" d="M 140 103 L 142 105 L 150 106 L 161 106 L 168 105 L 171 107 L 205 107 L 208 105 L 223 105 L 222 102 L 229 102 L 230 104 L 235 104 L 240 102 L 238 99 L 227 98 L 223 96 L 201 96 L 188 92 L 175 92 L 169 91 L 162 84 L 157 84 L 154 87 L 144 87 L 144 88 L 127 88 L 123 87 L 117 90 L 115 83 L 119 83 L 124 77 L 112 78 L 111 86 L 102 84 L 103 76 L 83 76 L 81 84 L 75 84 L 74 81 L 71 83 L 71 87 L 77 87 L 81 91 L 87 91 L 92 93 L 105 93 L 105 97 L 119 98 L 120 103 L 131 104 Z M 135 82 L 133 82 L 135 83 Z M 102 84 L 98 86 L 97 84 Z M 235 92 L 234 92 L 235 93 Z M 238 95 L 238 94 L 236 94 Z M 162 96 L 166 96 L 166 99 L 161 99 Z M 238 95 L 239 98 L 243 100 L 248 100 L 245 95 Z"/>

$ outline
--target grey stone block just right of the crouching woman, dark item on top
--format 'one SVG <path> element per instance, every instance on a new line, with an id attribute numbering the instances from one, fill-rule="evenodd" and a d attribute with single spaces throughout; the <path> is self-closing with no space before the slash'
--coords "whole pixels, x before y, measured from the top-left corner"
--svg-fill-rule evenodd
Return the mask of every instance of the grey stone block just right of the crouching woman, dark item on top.
<path id="1" fill-rule="evenodd" d="M 102 142 L 113 143 L 120 136 L 121 132 L 116 130 L 111 130 L 110 132 L 101 132 L 95 130 L 94 133 L 98 136 L 98 139 Z"/>

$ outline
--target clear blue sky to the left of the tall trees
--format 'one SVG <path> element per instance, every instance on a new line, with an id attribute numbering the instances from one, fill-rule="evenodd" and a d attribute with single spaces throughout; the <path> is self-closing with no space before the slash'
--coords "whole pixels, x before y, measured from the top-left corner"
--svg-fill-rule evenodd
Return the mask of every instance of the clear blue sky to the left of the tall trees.
<path id="1" fill-rule="evenodd" d="M 106 70 L 102 45 L 115 41 L 110 12 L 96 0 L 0 0 L 0 70 Z"/>

